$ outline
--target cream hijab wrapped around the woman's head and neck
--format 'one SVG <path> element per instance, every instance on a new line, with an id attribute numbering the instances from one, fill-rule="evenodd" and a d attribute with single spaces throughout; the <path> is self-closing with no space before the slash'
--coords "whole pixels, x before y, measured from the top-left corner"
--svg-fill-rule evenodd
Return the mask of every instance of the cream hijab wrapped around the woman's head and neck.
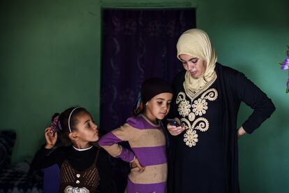
<path id="1" fill-rule="evenodd" d="M 200 78 L 193 78 L 191 73 L 186 71 L 184 89 L 190 96 L 216 78 L 214 69 L 217 57 L 209 36 L 201 29 L 188 29 L 181 34 L 177 42 L 177 58 L 180 59 L 179 55 L 182 54 L 198 57 L 207 62 L 206 71 Z"/>

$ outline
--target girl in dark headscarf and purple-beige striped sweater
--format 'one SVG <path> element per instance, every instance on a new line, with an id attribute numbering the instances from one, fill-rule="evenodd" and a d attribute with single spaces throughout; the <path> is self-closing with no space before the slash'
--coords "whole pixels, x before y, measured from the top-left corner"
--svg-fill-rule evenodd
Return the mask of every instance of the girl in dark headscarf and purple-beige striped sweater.
<path id="1" fill-rule="evenodd" d="M 141 89 L 141 101 L 123 126 L 98 142 L 113 157 L 131 163 L 126 192 L 166 192 L 167 157 L 161 121 L 170 110 L 172 89 L 160 78 L 150 78 Z M 144 106 L 144 108 L 142 108 Z M 128 141 L 131 150 L 118 143 Z"/>

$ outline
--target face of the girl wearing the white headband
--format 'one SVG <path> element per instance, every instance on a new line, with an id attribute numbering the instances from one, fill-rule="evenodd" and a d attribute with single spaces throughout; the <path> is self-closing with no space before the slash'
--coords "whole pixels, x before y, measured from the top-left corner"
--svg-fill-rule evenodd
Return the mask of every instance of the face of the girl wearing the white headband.
<path id="1" fill-rule="evenodd" d="M 91 116 L 87 113 L 82 113 L 77 116 L 76 130 L 73 131 L 75 135 L 75 142 L 79 144 L 85 144 L 89 142 L 98 141 L 98 129 L 94 124 Z M 73 136 L 74 136 L 73 135 Z"/>

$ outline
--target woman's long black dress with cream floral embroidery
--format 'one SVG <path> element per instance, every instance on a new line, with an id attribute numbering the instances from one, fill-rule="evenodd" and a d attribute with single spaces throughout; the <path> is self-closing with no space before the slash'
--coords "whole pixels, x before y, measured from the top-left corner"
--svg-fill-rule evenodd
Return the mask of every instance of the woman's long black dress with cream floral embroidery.
<path id="1" fill-rule="evenodd" d="M 173 81 L 170 117 L 186 130 L 170 138 L 168 192 L 237 193 L 237 112 L 241 101 L 253 108 L 242 125 L 247 133 L 269 117 L 274 104 L 244 74 L 216 64 L 216 79 L 190 98 L 185 71 Z"/>

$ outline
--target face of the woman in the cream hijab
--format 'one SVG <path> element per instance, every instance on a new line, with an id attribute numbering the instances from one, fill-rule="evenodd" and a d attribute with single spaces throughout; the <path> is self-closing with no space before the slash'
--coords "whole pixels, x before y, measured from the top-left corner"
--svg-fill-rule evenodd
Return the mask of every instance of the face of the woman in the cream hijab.
<path id="1" fill-rule="evenodd" d="M 193 78 L 200 78 L 205 74 L 207 68 L 207 62 L 198 57 L 190 55 L 179 55 L 181 62 L 183 63 L 184 69 L 191 73 Z"/>

